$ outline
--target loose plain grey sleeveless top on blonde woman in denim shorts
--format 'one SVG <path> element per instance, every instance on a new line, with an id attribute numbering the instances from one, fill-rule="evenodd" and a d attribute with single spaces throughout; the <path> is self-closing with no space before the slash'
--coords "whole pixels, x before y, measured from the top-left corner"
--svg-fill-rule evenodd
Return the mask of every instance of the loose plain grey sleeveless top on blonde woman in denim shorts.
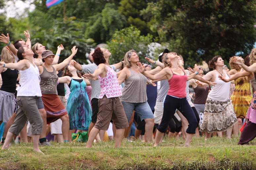
<path id="1" fill-rule="evenodd" d="M 141 73 L 136 73 L 129 68 L 131 75 L 125 80 L 125 86 L 122 89 L 121 101 L 129 103 L 142 103 L 147 98 L 147 77 Z"/>

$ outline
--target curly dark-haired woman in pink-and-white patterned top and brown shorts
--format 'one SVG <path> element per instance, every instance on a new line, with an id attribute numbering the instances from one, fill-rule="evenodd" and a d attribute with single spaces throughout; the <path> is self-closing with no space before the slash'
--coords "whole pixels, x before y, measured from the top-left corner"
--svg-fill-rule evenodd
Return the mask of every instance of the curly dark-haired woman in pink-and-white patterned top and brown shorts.
<path id="1" fill-rule="evenodd" d="M 89 79 L 98 77 L 100 82 L 100 95 L 98 100 L 99 111 L 97 122 L 91 129 L 86 147 L 91 148 L 93 140 L 99 133 L 99 130 L 107 130 L 112 119 L 116 126 L 115 147 L 119 148 L 124 136 L 125 128 L 128 127 L 128 121 L 124 111 L 123 104 L 119 97 L 122 95 L 118 84 L 116 72 L 110 68 L 108 60 L 111 53 L 104 48 L 97 47 L 92 54 L 94 63 L 98 69 L 93 74 L 85 74 Z"/>

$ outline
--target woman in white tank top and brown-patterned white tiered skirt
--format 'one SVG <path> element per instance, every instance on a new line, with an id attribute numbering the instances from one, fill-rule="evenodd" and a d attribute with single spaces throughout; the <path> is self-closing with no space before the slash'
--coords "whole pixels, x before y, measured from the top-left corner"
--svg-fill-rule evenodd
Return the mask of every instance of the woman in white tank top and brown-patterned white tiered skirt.
<path id="1" fill-rule="evenodd" d="M 237 122 L 233 104 L 229 99 L 230 82 L 226 83 L 218 78 L 218 75 L 229 78 L 227 71 L 223 70 L 224 61 L 221 56 L 215 56 L 209 61 L 209 67 L 213 71 L 208 72 L 202 78 L 217 83 L 212 87 L 205 103 L 205 110 L 201 125 L 201 131 L 206 131 L 205 139 L 211 136 L 211 132 L 217 131 L 222 137 L 222 131 L 227 130 L 227 138 L 231 138 L 233 125 Z"/>

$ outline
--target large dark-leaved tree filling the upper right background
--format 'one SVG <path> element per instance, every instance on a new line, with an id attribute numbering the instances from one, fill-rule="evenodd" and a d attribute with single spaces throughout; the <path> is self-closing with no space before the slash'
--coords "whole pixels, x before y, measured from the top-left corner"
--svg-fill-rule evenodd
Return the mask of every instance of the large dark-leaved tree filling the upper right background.
<path id="1" fill-rule="evenodd" d="M 255 1 L 160 0 L 143 12 L 154 14 L 151 30 L 160 42 L 167 41 L 190 64 L 214 55 L 226 60 L 239 51 L 246 55 L 255 43 Z"/>

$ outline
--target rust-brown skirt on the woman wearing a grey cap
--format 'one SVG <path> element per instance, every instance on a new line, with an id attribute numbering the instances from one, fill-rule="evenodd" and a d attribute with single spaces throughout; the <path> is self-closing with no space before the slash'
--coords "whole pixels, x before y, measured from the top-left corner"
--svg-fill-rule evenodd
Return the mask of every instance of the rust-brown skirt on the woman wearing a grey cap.
<path id="1" fill-rule="evenodd" d="M 46 111 L 47 124 L 55 122 L 60 117 L 67 114 L 67 111 L 58 95 L 42 94 L 42 100 Z"/>

